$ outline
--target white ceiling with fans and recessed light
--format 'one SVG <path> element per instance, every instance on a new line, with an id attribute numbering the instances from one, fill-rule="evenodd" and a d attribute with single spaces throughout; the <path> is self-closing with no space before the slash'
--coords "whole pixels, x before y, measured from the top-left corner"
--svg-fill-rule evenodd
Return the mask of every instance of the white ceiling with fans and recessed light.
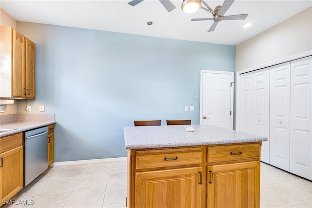
<path id="1" fill-rule="evenodd" d="M 54 24 L 178 40 L 237 45 L 312 6 L 311 0 L 235 0 L 224 16 L 245 14 L 245 20 L 220 21 L 207 32 L 212 18 L 199 10 L 186 14 L 182 0 L 171 0 L 176 8 L 168 12 L 158 0 L 1 0 L 0 7 L 17 21 Z M 223 0 L 206 0 L 214 9 Z M 147 25 L 147 21 L 153 21 Z M 243 28 L 246 22 L 254 25 Z"/>

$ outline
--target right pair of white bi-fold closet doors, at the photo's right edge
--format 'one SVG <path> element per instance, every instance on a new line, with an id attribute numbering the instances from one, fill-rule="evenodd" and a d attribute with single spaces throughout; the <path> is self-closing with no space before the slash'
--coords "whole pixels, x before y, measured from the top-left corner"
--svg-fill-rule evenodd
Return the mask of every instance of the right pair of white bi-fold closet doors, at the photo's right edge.
<path id="1" fill-rule="evenodd" d="M 312 180 L 312 57 L 270 67 L 270 164 Z"/>

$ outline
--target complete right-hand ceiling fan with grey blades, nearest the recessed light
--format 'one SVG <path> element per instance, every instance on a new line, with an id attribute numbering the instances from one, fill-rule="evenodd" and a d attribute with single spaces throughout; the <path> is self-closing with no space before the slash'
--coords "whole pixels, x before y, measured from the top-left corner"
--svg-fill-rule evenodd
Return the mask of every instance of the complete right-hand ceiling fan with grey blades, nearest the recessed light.
<path id="1" fill-rule="evenodd" d="M 184 0 L 187 1 L 187 0 Z M 213 10 L 207 2 L 204 0 L 195 0 L 196 3 L 199 1 L 199 8 L 203 9 L 209 13 L 211 13 L 214 17 L 213 18 L 198 18 L 198 19 L 192 19 L 191 21 L 204 21 L 204 20 L 213 20 L 214 23 L 211 25 L 209 28 L 208 32 L 214 31 L 216 25 L 218 24 L 219 21 L 222 20 L 245 20 L 248 14 L 241 14 L 241 15 L 230 15 L 230 16 L 223 16 L 225 12 L 230 8 L 230 6 L 233 4 L 234 0 L 224 0 L 222 6 L 216 6 L 215 9 Z M 194 2 L 194 0 L 193 0 Z M 200 5 L 200 2 L 205 4 L 205 7 Z M 184 2 L 183 2 L 184 3 Z M 182 3 L 182 9 L 183 9 L 183 3 Z"/>

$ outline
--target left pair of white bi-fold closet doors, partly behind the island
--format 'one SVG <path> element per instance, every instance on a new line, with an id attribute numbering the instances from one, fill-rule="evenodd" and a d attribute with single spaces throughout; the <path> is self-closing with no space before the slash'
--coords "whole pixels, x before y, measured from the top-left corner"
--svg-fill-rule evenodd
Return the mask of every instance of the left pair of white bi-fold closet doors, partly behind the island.
<path id="1" fill-rule="evenodd" d="M 240 131 L 269 138 L 269 67 L 240 76 Z M 262 142 L 261 161 L 269 163 L 269 141 Z"/>

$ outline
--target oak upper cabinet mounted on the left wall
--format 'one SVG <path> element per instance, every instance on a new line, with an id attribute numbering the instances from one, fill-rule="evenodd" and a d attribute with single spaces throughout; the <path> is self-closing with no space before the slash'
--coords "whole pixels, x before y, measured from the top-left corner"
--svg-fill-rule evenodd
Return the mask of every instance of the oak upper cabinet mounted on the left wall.
<path id="1" fill-rule="evenodd" d="M 0 98 L 35 99 L 35 43 L 0 26 Z"/>

